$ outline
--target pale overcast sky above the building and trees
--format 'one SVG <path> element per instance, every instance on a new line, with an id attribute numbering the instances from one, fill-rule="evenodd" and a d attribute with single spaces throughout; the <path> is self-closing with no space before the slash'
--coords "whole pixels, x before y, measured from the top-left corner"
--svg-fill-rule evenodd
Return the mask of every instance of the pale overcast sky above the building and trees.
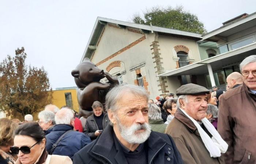
<path id="1" fill-rule="evenodd" d="M 25 47 L 26 64 L 44 66 L 53 89 L 76 86 L 71 70 L 82 58 L 97 16 L 130 21 L 155 5 L 183 5 L 208 32 L 256 12 L 255 0 L 0 0 L 0 62 Z"/>

